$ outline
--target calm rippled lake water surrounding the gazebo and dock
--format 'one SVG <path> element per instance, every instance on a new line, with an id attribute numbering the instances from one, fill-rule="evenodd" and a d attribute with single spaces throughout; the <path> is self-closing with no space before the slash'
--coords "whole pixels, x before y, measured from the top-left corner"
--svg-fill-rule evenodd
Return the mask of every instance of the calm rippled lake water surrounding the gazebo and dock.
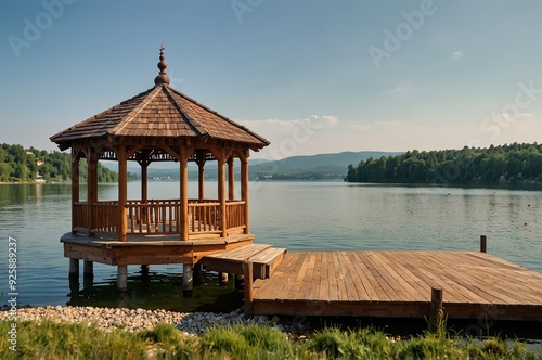
<path id="1" fill-rule="evenodd" d="M 206 183 L 207 197 L 216 183 Z M 179 196 L 176 182 L 150 182 L 150 198 Z M 83 188 L 83 187 L 81 187 Z M 140 183 L 129 183 L 139 197 Z M 197 183 L 190 184 L 196 197 Z M 86 189 L 81 189 L 85 193 Z M 116 198 L 114 184 L 100 200 Z M 229 311 L 242 303 L 233 281 L 204 272 L 192 298 L 182 297 L 182 266 L 128 267 L 129 292 L 116 291 L 116 268 L 94 265 L 93 283 L 69 283 L 59 239 L 70 226 L 69 184 L 0 184 L 0 292 L 8 300 L 8 239 L 17 241 L 21 305 L 74 305 Z M 256 242 L 295 250 L 479 250 L 542 271 L 542 192 L 461 188 L 251 182 L 250 230 Z M 81 280 L 82 281 L 82 280 Z"/>

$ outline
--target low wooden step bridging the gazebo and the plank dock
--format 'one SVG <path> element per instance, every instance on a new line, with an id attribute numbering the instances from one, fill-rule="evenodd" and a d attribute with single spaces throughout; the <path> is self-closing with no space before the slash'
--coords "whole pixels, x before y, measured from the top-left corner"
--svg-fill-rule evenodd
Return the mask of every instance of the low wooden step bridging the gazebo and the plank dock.
<path id="1" fill-rule="evenodd" d="M 283 260 L 286 248 L 276 248 L 266 244 L 250 244 L 231 250 L 207 255 L 202 263 L 207 270 L 243 274 L 243 262 L 253 262 L 255 279 L 267 279 Z"/>

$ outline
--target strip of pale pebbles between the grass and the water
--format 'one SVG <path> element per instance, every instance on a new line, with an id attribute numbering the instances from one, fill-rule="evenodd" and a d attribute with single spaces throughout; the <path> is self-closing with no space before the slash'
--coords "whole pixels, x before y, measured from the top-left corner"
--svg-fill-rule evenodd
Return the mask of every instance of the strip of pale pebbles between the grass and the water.
<path id="1" fill-rule="evenodd" d="M 10 319 L 11 312 L 7 308 L 0 311 L 0 321 Z M 17 321 L 50 320 L 63 323 L 95 323 L 99 327 L 112 331 L 124 329 L 130 332 L 151 330 L 157 323 L 171 323 L 184 335 L 195 336 L 209 327 L 228 324 L 250 324 L 274 326 L 280 331 L 299 331 L 308 327 L 310 323 L 307 318 L 289 319 L 287 323 L 281 323 L 279 317 L 257 316 L 245 319 L 244 308 L 238 308 L 229 313 L 214 312 L 175 312 L 167 310 L 145 310 L 127 308 L 95 308 L 95 307 L 62 307 L 48 306 L 38 308 L 21 308 L 16 312 Z"/>

